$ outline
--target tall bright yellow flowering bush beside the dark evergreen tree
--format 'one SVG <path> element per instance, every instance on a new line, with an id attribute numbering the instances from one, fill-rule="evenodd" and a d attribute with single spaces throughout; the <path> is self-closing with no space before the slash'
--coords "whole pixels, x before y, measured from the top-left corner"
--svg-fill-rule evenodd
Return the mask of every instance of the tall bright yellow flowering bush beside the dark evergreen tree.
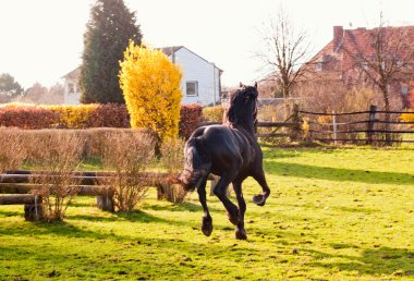
<path id="1" fill-rule="evenodd" d="M 150 129 L 162 142 L 179 133 L 181 70 L 159 50 L 133 41 L 120 62 L 120 85 L 132 127 Z"/>

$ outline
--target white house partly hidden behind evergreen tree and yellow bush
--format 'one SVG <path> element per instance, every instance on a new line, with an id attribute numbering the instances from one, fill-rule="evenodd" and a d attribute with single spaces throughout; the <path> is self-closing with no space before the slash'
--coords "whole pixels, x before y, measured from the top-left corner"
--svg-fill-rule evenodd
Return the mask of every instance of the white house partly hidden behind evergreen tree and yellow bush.
<path id="1" fill-rule="evenodd" d="M 160 48 L 166 56 L 178 65 L 181 65 L 183 78 L 182 105 L 198 103 L 200 106 L 215 105 L 220 100 L 221 73 L 223 72 L 200 56 L 184 46 Z M 81 89 L 78 87 L 80 68 L 68 73 L 64 80 L 64 103 L 78 105 Z"/>

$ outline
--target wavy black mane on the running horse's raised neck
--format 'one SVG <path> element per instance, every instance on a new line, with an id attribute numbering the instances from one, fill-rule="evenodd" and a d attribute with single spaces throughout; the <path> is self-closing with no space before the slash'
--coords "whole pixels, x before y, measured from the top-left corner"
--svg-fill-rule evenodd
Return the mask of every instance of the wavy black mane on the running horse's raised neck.
<path id="1" fill-rule="evenodd" d="M 243 87 L 241 89 L 238 89 L 233 93 L 230 94 L 229 96 L 229 107 L 228 109 L 224 111 L 224 120 L 223 120 L 223 123 L 229 125 L 229 126 L 234 126 L 234 125 L 245 125 L 243 123 L 245 123 L 245 119 L 240 119 L 240 117 L 238 115 L 239 111 L 244 111 L 244 109 L 242 108 L 243 103 L 242 102 L 239 102 L 239 99 L 243 98 L 242 97 L 242 94 L 246 91 L 248 87 Z M 253 112 L 253 123 L 254 125 L 256 125 L 257 123 L 257 106 L 256 106 L 256 101 L 255 102 L 255 110 Z"/>

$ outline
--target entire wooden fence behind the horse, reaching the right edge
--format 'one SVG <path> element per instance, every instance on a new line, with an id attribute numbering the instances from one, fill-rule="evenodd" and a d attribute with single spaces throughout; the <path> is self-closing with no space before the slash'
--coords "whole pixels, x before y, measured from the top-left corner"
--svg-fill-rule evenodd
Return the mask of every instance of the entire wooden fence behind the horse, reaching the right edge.
<path id="1" fill-rule="evenodd" d="M 414 122 L 401 121 L 402 113 L 414 114 L 407 111 L 380 111 L 370 106 L 367 111 L 322 113 L 301 111 L 294 108 L 291 117 L 284 122 L 258 122 L 257 137 L 264 140 L 273 137 L 290 137 L 290 139 L 309 139 L 338 144 L 365 142 L 375 143 L 414 143 L 414 139 L 404 139 L 402 134 L 413 134 L 410 125 Z M 385 115 L 391 115 L 385 120 Z M 203 122 L 198 126 L 221 124 L 220 122 Z M 305 129 L 308 126 L 307 129 Z M 401 127 L 402 126 L 402 127 Z M 405 126 L 405 127 L 404 127 Z M 269 129 L 270 132 L 264 133 Z M 388 135 L 388 137 L 387 137 Z"/>

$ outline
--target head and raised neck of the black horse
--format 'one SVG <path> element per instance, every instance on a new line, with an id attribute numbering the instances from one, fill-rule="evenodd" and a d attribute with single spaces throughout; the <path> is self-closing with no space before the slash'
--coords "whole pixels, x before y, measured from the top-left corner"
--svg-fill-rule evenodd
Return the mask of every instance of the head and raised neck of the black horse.
<path id="1" fill-rule="evenodd" d="M 230 95 L 230 106 L 226 115 L 227 122 L 252 129 L 256 122 L 257 96 L 257 83 L 254 86 L 240 84 L 240 89 Z"/>

